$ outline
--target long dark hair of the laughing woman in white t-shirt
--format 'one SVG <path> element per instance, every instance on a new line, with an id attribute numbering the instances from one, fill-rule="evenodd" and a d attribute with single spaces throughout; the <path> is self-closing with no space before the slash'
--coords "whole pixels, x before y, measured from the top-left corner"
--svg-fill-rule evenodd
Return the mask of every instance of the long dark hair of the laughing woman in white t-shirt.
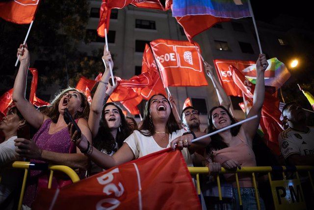
<path id="1" fill-rule="evenodd" d="M 163 94 L 156 94 L 156 95 L 161 95 L 163 96 L 165 99 L 167 99 Z M 150 106 L 151 106 L 151 101 L 152 98 L 156 95 L 153 95 L 147 102 L 145 105 L 145 110 L 144 110 L 144 118 L 143 121 L 141 123 L 141 126 L 139 128 L 139 132 L 141 132 L 141 134 L 143 134 L 144 136 L 152 136 L 155 133 L 155 126 L 153 124 L 153 122 L 151 121 L 151 113 L 150 113 Z M 170 102 L 167 99 L 167 102 L 170 106 Z M 167 133 L 172 133 L 175 132 L 177 130 L 180 129 L 180 126 L 175 118 L 175 116 L 173 115 L 172 109 L 170 109 L 170 116 L 168 118 L 167 124 L 166 124 L 166 132 Z M 147 130 L 146 132 L 143 130 Z"/>

